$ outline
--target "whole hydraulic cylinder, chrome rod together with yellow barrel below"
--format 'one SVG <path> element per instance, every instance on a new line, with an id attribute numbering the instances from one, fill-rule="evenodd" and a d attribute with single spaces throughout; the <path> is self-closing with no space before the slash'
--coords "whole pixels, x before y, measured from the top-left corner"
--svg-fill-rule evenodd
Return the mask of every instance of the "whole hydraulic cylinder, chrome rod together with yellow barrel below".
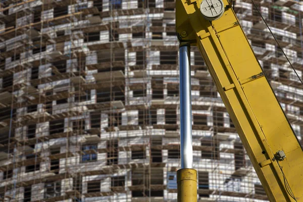
<path id="1" fill-rule="evenodd" d="M 196 202 L 197 172 L 192 169 L 190 44 L 181 42 L 179 52 L 181 169 L 177 172 L 178 202 Z"/>

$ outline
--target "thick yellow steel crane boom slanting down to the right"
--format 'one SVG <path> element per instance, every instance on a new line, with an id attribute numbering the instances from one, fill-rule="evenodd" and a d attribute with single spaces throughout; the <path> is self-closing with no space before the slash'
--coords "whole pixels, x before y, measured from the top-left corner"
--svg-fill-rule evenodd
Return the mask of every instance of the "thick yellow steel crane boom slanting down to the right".
<path id="1" fill-rule="evenodd" d="M 224 15 L 208 21 L 201 0 L 176 0 L 177 35 L 198 47 L 270 201 L 303 201 L 302 148 L 231 2 L 223 2 Z M 286 158 L 277 162 L 279 150 Z"/>

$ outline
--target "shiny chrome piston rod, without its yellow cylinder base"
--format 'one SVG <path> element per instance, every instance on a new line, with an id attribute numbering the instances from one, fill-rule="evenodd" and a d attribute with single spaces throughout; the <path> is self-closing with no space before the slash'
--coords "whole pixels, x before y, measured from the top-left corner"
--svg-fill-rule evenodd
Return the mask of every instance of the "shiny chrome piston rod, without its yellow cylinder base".
<path id="1" fill-rule="evenodd" d="M 181 168 L 192 168 L 190 46 L 180 47 Z"/>

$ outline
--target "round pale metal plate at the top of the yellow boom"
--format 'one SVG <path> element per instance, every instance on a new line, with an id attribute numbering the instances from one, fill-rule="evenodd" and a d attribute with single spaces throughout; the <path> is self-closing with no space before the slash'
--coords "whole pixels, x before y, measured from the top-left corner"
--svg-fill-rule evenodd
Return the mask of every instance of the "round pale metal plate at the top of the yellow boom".
<path id="1" fill-rule="evenodd" d="M 224 4 L 222 0 L 203 0 L 200 11 L 205 19 L 217 20 L 224 13 Z"/>

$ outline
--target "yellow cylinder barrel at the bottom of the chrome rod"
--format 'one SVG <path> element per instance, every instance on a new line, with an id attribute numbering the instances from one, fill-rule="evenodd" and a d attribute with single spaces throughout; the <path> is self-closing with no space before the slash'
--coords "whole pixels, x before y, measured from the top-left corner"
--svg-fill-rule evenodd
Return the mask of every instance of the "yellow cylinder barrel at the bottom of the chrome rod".
<path id="1" fill-rule="evenodd" d="M 183 168 L 177 171 L 178 202 L 197 201 L 197 171 Z"/>

